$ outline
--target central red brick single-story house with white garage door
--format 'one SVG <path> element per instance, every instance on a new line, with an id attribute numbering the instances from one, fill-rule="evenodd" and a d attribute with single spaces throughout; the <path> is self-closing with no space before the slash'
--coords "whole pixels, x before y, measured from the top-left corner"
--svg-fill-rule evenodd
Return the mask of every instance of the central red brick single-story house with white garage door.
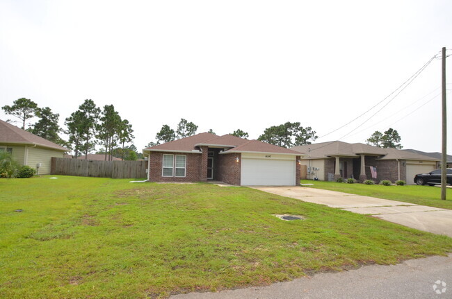
<path id="1" fill-rule="evenodd" d="M 200 133 L 145 148 L 151 182 L 300 185 L 301 154 L 233 135 Z"/>

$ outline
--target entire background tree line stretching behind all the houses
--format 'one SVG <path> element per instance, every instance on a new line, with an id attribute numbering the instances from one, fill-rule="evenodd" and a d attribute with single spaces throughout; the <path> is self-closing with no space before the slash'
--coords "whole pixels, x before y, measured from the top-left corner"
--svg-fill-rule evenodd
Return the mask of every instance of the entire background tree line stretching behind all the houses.
<path id="1" fill-rule="evenodd" d="M 86 157 L 88 153 L 95 151 L 95 146 L 100 144 L 104 150 L 97 151 L 99 154 L 105 155 L 105 160 L 111 160 L 112 157 L 120 157 L 122 160 L 136 160 L 142 158 L 143 155 L 138 153 L 136 146 L 131 144 L 134 135 L 132 133 L 131 123 L 127 119 L 122 119 L 120 114 L 115 110 L 113 105 L 105 105 L 104 108 L 98 108 L 94 101 L 85 100 L 79 109 L 73 112 L 70 117 L 65 119 L 67 130 L 63 130 L 58 126 L 59 114 L 53 113 L 49 107 L 39 108 L 38 104 L 30 99 L 18 99 L 13 105 L 5 105 L 2 107 L 6 114 L 13 115 L 20 119 L 22 129 L 25 130 L 26 123 L 33 117 L 38 117 L 38 121 L 32 124 L 29 132 L 45 138 L 61 146 L 65 146 L 74 151 L 75 157 L 83 154 Z M 9 119 L 7 121 L 10 121 Z M 161 130 L 156 133 L 156 142 L 150 142 L 147 146 L 156 146 L 166 142 L 172 142 L 175 139 L 192 136 L 196 134 L 198 126 L 191 121 L 181 119 L 177 124 L 177 128 L 172 129 L 168 125 L 163 125 Z M 63 140 L 58 133 L 64 132 L 69 135 L 69 140 Z M 212 129 L 209 133 L 215 134 Z M 248 138 L 249 135 L 241 129 L 234 130 L 230 133 L 236 137 Z M 286 122 L 278 126 L 271 126 L 264 130 L 257 140 L 290 148 L 292 146 L 300 146 L 311 144 L 318 136 L 316 131 L 311 127 L 302 127 L 299 122 Z M 402 148 L 399 143 L 401 137 L 397 130 L 389 128 L 385 133 L 379 131 L 374 132 L 367 144 L 382 148 Z"/>

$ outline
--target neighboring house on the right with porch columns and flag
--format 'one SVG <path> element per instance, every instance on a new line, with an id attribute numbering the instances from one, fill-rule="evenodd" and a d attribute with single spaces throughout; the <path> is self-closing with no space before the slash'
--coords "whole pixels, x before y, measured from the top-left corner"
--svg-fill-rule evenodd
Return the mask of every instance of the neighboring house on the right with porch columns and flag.
<path id="1" fill-rule="evenodd" d="M 294 146 L 291 149 L 305 153 L 301 158 L 301 165 L 307 167 L 307 178 L 318 180 L 405 180 L 407 184 L 414 184 L 417 173 L 433 171 L 439 161 L 437 158 L 396 148 L 339 141 Z M 372 177 L 372 171 L 376 171 L 376 178 Z"/>

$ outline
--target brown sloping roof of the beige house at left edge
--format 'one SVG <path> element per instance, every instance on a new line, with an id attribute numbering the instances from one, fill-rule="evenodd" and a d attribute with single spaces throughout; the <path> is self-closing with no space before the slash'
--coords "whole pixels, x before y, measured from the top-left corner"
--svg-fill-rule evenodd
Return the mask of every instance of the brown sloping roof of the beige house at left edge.
<path id="1" fill-rule="evenodd" d="M 26 130 L 13 126 L 0 119 L 0 143 L 3 144 L 24 144 L 36 145 L 51 148 L 57 151 L 70 151 L 63 146 L 49 142 L 49 140 L 34 135 Z"/>

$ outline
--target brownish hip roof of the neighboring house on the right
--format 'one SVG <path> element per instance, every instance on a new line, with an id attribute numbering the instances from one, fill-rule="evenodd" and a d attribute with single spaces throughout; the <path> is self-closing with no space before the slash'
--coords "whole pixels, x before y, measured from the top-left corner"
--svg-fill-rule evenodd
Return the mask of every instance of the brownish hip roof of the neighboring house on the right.
<path id="1" fill-rule="evenodd" d="M 396 148 L 379 148 L 377 146 L 370 146 L 369 144 L 349 144 L 347 142 L 340 141 L 294 146 L 291 149 L 300 153 L 306 153 L 306 158 L 308 159 L 322 159 L 333 156 L 359 157 L 360 155 L 375 155 L 378 156 L 381 160 L 401 159 L 437 161 L 437 159 L 428 157 L 426 155 L 410 153 L 407 151 L 398 150 Z"/>

